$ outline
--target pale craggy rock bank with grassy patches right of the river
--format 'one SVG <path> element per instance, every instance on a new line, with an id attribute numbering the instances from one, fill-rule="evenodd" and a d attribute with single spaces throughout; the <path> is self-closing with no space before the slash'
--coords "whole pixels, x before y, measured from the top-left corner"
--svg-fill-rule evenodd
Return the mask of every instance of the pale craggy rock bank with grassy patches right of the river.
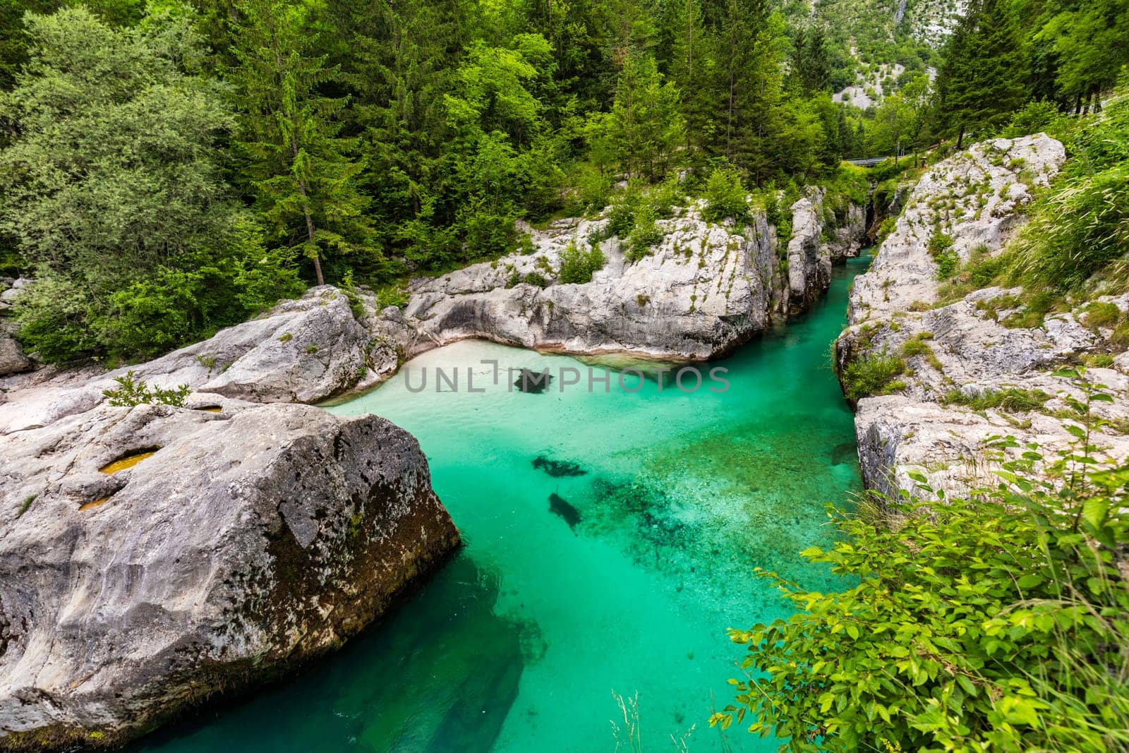
<path id="1" fill-rule="evenodd" d="M 1038 327 L 1014 326 L 1009 317 L 1022 313 L 1018 289 L 977 290 L 940 305 L 928 251 L 930 235 L 940 229 L 953 237 L 962 261 L 981 244 L 981 252 L 998 253 L 1023 221 L 1017 209 L 1030 201 L 1030 187 L 1045 185 L 1064 158 L 1058 141 L 1039 134 L 978 143 L 937 164 L 914 187 L 870 271 L 856 278 L 851 325 L 835 343 L 840 377 L 849 379 L 848 367 L 859 359 L 904 366 L 887 386 L 894 394 L 858 401 L 856 435 L 869 488 L 913 489 L 908 474 L 916 472 L 931 487 L 960 494 L 998 483 L 992 471 L 999 457 L 986 447 L 989 437 L 1034 443 L 1047 456 L 1071 441 L 1054 414 L 1066 411 L 1066 397 L 1084 394 L 1053 370 L 1108 351 L 1109 333 L 1085 326 L 1078 310 L 1049 315 Z M 1110 303 L 1129 310 L 1129 297 Z M 1124 426 L 1129 380 L 1113 369 L 1092 369 L 1089 376 L 1117 397 L 1096 403 L 1095 412 Z M 1009 393 L 1016 397 L 996 408 L 962 405 Z M 1129 437 L 1118 431 L 1105 429 L 1094 439 L 1100 455 L 1129 455 Z M 1016 452 L 1022 448 L 1008 454 Z"/>

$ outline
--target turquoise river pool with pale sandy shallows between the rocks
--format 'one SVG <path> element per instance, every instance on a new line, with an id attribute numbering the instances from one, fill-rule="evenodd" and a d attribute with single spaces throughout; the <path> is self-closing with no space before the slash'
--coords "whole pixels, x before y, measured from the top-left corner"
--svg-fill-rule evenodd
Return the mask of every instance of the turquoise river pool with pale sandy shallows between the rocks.
<path id="1" fill-rule="evenodd" d="M 864 264 L 838 268 L 807 316 L 710 365 L 728 369 L 720 394 L 708 374 L 692 394 L 630 374 L 636 393 L 614 374 L 589 393 L 571 358 L 461 342 L 330 409 L 419 438 L 465 549 L 306 674 L 137 750 L 614 751 L 613 691 L 638 693 L 642 750 L 674 750 L 691 728 L 690 751 L 723 750 L 707 718 L 729 702 L 742 655 L 725 630 L 787 615 L 753 569 L 833 586 L 797 552 L 829 543 L 824 505 L 860 489 L 829 347 Z M 497 386 L 481 359 L 499 361 Z M 425 367 L 426 389 L 410 392 Z M 436 392 L 437 367 L 457 367 L 457 391 Z M 467 392 L 467 367 L 484 393 Z M 555 376 L 523 393 L 507 367 Z M 561 392 L 562 367 L 581 384 Z M 728 733 L 735 751 L 777 742 Z"/>

